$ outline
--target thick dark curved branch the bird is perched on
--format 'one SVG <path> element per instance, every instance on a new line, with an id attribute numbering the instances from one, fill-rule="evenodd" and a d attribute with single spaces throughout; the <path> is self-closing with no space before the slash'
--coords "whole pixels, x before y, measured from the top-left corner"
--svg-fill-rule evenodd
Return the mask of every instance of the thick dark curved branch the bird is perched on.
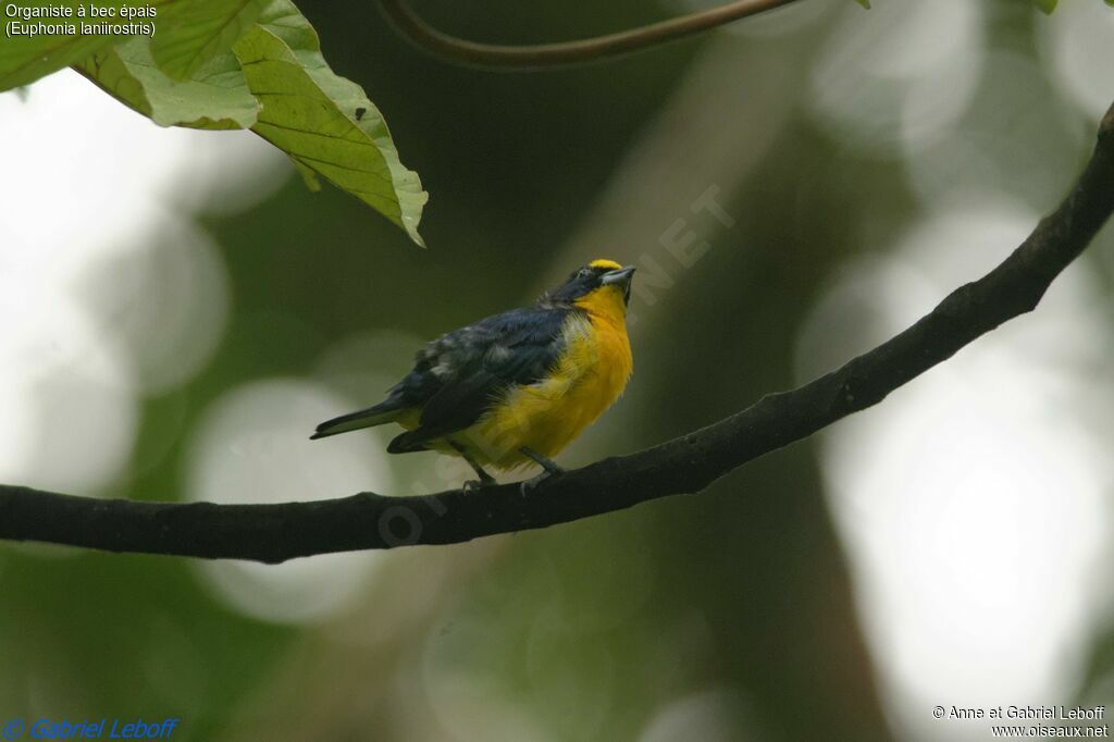
<path id="1" fill-rule="evenodd" d="M 1112 211 L 1114 106 L 1064 203 L 1000 265 L 951 292 L 908 330 L 799 389 L 764 397 L 659 446 L 554 477 L 527 497 L 518 485 L 502 485 L 424 497 L 362 492 L 316 502 L 183 505 L 0 486 L 0 538 L 277 563 L 331 551 L 458 544 L 697 492 L 747 461 L 877 404 L 979 335 L 1032 311 Z"/>

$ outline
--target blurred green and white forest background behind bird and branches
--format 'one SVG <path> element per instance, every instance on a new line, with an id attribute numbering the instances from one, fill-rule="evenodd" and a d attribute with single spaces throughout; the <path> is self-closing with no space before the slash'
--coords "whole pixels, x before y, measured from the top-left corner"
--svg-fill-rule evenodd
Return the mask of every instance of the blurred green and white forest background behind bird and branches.
<path id="1" fill-rule="evenodd" d="M 475 6 L 531 42 L 704 0 Z M 237 502 L 467 470 L 310 442 L 420 343 L 575 266 L 639 267 L 635 375 L 563 457 L 634 451 L 869 349 L 1000 261 L 1114 100 L 1114 10 L 802 2 L 492 74 L 305 0 L 431 199 L 429 250 L 247 133 L 69 71 L 0 96 L 0 481 Z M 0 709 L 176 740 L 987 739 L 932 706 L 1114 704 L 1114 231 L 1045 303 L 700 497 L 281 566 L 0 545 Z M 602 497 L 605 494 L 600 495 Z"/>

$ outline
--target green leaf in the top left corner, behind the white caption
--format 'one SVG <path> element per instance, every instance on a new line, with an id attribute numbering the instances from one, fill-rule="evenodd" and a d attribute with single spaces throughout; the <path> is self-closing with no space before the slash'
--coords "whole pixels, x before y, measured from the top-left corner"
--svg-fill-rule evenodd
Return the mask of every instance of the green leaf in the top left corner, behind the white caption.
<path id="1" fill-rule="evenodd" d="M 144 0 L 143 6 L 139 7 L 152 7 L 156 9 L 156 12 L 162 13 L 179 1 L 182 0 Z M 8 3 L 6 2 L 4 4 L 7 6 Z M 137 4 L 135 2 L 129 2 L 128 0 L 98 0 L 96 4 L 99 8 L 114 8 L 117 17 L 89 18 L 86 16 L 85 18 L 80 18 L 77 16 L 78 6 L 87 6 L 87 3 L 79 0 L 32 0 L 31 2 L 19 3 L 20 7 L 25 8 L 52 7 L 69 9 L 74 13 L 70 17 L 31 19 L 28 22 L 41 21 L 51 26 L 72 26 L 75 32 L 72 35 L 60 33 L 53 36 L 46 33 L 38 36 L 8 36 L 7 29 L 0 31 L 3 35 L 3 40 L 0 42 L 0 91 L 33 82 L 40 77 L 77 64 L 128 38 L 110 33 L 82 35 L 79 32 L 80 23 L 82 22 L 131 22 L 148 26 L 152 30 L 155 27 L 156 19 L 154 18 L 127 20 L 118 17 L 120 8 L 125 6 L 136 8 Z M 4 25 L 7 26 L 9 21 L 13 20 L 18 19 L 4 18 Z"/>

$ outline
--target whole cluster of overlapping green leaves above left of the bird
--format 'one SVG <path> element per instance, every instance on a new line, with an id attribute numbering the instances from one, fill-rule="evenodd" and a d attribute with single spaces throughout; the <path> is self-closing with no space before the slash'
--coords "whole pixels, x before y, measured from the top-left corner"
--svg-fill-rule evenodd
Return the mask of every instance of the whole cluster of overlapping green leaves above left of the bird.
<path id="1" fill-rule="evenodd" d="M 136 36 L 82 46 L 80 36 L 36 37 L 57 45 L 39 48 L 46 66 L 25 59 L 26 49 L 16 55 L 0 46 L 0 75 L 6 60 L 14 65 L 0 79 L 31 81 L 74 64 L 162 126 L 251 128 L 294 159 L 311 191 L 323 176 L 421 245 L 418 223 L 428 195 L 399 160 L 379 109 L 360 86 L 333 74 L 316 31 L 290 0 L 270 0 L 261 11 L 263 1 L 162 0 L 167 10 L 157 16 L 155 41 Z M 183 77 L 167 75 L 167 66 Z"/>

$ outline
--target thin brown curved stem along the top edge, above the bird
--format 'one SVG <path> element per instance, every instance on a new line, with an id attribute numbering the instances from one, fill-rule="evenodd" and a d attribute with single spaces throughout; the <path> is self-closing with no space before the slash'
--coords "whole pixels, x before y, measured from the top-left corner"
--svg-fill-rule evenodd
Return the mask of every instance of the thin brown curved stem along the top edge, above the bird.
<path id="1" fill-rule="evenodd" d="M 596 61 L 661 46 L 791 2 L 795 0 L 735 0 L 719 8 L 618 33 L 528 46 L 479 43 L 449 36 L 422 20 L 410 9 L 407 0 L 380 0 L 380 7 L 414 46 L 437 57 L 475 67 L 529 70 Z"/>

